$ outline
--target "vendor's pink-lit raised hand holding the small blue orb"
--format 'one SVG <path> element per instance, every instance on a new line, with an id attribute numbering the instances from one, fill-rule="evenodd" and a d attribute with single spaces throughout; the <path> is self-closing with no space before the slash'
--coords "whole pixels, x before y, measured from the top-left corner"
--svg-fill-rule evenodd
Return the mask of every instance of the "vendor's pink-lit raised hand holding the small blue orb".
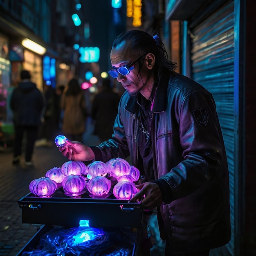
<path id="1" fill-rule="evenodd" d="M 95 157 L 92 149 L 79 141 L 67 140 L 64 146 L 58 149 L 62 155 L 73 161 L 91 161 Z"/>

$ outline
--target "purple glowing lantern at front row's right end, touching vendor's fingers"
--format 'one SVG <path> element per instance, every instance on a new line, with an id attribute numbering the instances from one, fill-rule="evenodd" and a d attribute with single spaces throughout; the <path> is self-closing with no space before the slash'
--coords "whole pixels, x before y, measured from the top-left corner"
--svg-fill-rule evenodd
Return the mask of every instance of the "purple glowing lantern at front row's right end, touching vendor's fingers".
<path id="1" fill-rule="evenodd" d="M 113 194 L 117 199 L 130 200 L 136 193 L 138 189 L 132 182 L 121 181 L 113 188 Z"/>

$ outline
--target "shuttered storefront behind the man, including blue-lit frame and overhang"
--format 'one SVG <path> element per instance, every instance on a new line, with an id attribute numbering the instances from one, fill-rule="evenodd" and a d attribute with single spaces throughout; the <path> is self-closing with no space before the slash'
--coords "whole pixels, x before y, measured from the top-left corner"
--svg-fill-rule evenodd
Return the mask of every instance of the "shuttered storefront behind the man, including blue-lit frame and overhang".
<path id="1" fill-rule="evenodd" d="M 216 101 L 216 108 L 225 141 L 230 175 L 231 240 L 211 255 L 238 255 L 240 250 L 240 148 L 242 130 L 239 122 L 243 108 L 239 93 L 239 10 L 240 1 L 169 0 L 166 20 L 180 20 L 180 48 L 182 71 L 209 90 Z M 235 34 L 237 37 L 235 37 Z M 171 38 L 174 37 L 171 31 Z M 171 45 L 171 50 L 173 45 Z M 241 191 L 240 191 L 241 192 Z M 237 196 L 238 195 L 238 196 Z M 241 194 L 240 194 L 241 195 Z"/>

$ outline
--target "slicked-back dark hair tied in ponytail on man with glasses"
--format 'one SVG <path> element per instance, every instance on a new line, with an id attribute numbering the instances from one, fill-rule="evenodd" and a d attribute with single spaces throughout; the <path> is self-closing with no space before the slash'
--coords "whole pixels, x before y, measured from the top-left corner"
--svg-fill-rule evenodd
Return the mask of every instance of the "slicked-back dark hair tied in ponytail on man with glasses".
<path id="1" fill-rule="evenodd" d="M 145 31 L 130 30 L 117 36 L 112 43 L 112 48 L 123 41 L 130 43 L 130 52 L 138 57 L 148 53 L 155 55 L 155 75 L 158 77 L 161 76 L 163 67 L 171 72 L 177 67 L 177 63 L 168 60 L 164 43 L 158 35 L 151 36 Z"/>

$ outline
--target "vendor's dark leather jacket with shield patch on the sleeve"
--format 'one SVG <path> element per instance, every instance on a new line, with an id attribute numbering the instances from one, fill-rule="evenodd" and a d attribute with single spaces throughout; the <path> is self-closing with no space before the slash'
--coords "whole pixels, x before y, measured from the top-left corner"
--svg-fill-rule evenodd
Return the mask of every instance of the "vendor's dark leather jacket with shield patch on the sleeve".
<path id="1" fill-rule="evenodd" d="M 106 162 L 130 155 L 136 166 L 138 113 L 136 98 L 125 92 L 112 139 L 92 146 L 95 160 Z M 229 172 L 212 95 L 186 76 L 163 74 L 152 113 L 154 175 L 163 198 L 168 198 L 158 209 L 166 249 L 189 253 L 227 244 Z"/>

